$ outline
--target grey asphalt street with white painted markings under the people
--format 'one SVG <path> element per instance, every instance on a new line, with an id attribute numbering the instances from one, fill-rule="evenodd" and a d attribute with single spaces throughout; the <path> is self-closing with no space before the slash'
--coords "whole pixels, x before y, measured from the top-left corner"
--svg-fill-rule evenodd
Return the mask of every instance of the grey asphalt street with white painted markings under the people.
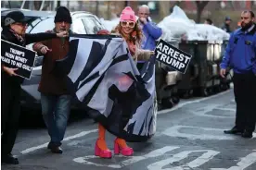
<path id="1" fill-rule="evenodd" d="M 236 115 L 233 90 L 207 98 L 182 100 L 172 109 L 160 111 L 157 133 L 147 142 L 129 143 L 134 156 L 94 156 L 97 125 L 81 118 L 70 123 L 63 154 L 46 149 L 45 128 L 21 128 L 13 153 L 19 165 L 2 164 L 2 169 L 24 170 L 255 170 L 254 138 L 225 135 Z M 109 149 L 114 136 L 107 134 Z"/>

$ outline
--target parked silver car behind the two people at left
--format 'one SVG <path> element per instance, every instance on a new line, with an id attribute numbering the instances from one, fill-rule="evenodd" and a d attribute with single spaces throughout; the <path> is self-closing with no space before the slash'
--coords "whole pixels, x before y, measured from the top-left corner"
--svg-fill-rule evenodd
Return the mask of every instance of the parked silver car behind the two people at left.
<path id="1" fill-rule="evenodd" d="M 1 22 L 7 13 L 18 9 L 1 10 Z M 54 17 L 56 12 L 21 10 L 25 17 L 30 18 L 27 33 L 45 32 L 55 27 Z M 71 12 L 72 24 L 70 30 L 81 34 L 96 34 L 98 30 L 105 29 L 100 20 L 93 14 L 83 11 Z M 3 25 L 3 24 L 2 24 Z M 27 45 L 32 50 L 32 44 Z M 42 63 L 44 56 L 37 56 L 32 69 L 31 79 L 25 79 L 21 85 L 21 107 L 22 109 L 40 110 L 40 92 L 37 91 L 42 74 Z M 80 109 L 72 103 L 72 109 Z M 34 112 L 37 113 L 37 112 Z"/>

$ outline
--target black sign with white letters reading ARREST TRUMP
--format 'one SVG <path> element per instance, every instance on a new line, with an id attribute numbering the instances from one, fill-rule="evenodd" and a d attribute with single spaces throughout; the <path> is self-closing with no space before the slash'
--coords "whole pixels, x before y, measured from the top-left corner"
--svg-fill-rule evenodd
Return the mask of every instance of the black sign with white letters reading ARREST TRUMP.
<path id="1" fill-rule="evenodd" d="M 192 57 L 163 40 L 157 44 L 155 54 L 158 61 L 183 74 L 186 73 L 186 68 Z"/>

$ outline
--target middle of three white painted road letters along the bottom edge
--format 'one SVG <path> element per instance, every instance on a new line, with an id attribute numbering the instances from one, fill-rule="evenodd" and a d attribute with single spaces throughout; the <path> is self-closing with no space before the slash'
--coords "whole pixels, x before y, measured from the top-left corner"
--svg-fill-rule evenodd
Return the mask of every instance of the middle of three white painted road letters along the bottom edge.
<path id="1" fill-rule="evenodd" d="M 205 152 L 205 153 L 203 153 L 197 159 L 195 159 L 194 161 L 192 161 L 188 164 L 181 165 L 181 166 L 174 166 L 174 167 L 171 167 L 171 168 L 163 168 L 166 165 L 170 165 L 170 164 L 173 164 L 174 162 L 178 162 L 178 161 L 181 161 L 181 160 L 187 158 L 188 155 L 192 152 Z M 171 158 L 161 160 L 161 161 L 159 161 L 157 163 L 154 163 L 154 164 L 149 164 L 147 166 L 147 169 L 148 170 L 156 170 L 156 169 L 158 169 L 158 170 L 161 170 L 161 169 L 164 169 L 164 170 L 183 170 L 183 169 L 186 169 L 188 167 L 189 167 L 189 169 L 190 168 L 195 168 L 195 167 L 198 167 L 202 164 L 205 164 L 205 163 L 209 162 L 213 158 L 213 156 L 215 156 L 218 153 L 219 152 L 215 152 L 215 151 L 212 151 L 212 150 L 198 150 L 198 151 L 179 152 L 177 154 L 174 154 Z"/>

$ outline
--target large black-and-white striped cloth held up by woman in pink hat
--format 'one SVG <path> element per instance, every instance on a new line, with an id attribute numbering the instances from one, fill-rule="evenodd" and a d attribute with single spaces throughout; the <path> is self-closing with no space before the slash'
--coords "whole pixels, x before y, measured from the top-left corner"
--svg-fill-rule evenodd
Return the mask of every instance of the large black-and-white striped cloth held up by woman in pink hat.
<path id="1" fill-rule="evenodd" d="M 126 42 L 114 35 L 72 35 L 70 52 L 56 62 L 87 113 L 127 141 L 156 132 L 155 57 L 138 71 Z"/>

